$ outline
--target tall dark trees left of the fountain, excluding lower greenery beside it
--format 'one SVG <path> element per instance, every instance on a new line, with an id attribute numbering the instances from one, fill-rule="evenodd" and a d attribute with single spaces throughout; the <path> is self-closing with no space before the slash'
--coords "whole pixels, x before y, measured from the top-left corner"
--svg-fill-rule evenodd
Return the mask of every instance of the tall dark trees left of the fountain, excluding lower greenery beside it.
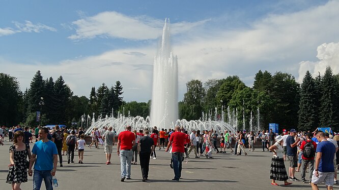
<path id="1" fill-rule="evenodd" d="M 37 111 L 41 111 L 41 125 L 65 124 L 80 125 L 81 117 L 116 115 L 123 104 L 123 87 L 119 81 L 108 88 L 104 83 L 95 90 L 92 87 L 90 98 L 73 95 L 62 76 L 55 82 L 52 77 L 43 79 L 38 70 L 30 88 L 21 92 L 19 82 L 9 74 L 0 73 L 0 125 L 37 126 Z M 112 109 L 113 108 L 113 109 Z"/>

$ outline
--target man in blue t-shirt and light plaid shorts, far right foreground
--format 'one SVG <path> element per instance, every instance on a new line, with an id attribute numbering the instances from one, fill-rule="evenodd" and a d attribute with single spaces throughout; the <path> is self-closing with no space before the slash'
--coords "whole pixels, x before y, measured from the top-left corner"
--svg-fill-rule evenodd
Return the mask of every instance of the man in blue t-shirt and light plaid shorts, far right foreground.
<path id="1" fill-rule="evenodd" d="M 318 131 L 316 137 L 319 143 L 317 145 L 316 165 L 311 186 L 312 189 L 319 189 L 317 184 L 325 182 L 327 189 L 333 189 L 335 146 L 332 142 L 326 140 L 325 134 L 322 131 Z"/>

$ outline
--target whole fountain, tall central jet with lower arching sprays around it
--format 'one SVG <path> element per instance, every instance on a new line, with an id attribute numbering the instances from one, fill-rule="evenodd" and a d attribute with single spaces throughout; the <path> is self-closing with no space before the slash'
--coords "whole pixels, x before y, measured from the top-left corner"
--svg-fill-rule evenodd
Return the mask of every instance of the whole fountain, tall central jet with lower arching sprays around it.
<path id="1" fill-rule="evenodd" d="M 208 113 L 202 113 L 200 120 L 186 121 L 185 119 L 178 120 L 178 63 L 177 57 L 171 52 L 170 43 L 170 20 L 166 19 L 162 32 L 162 39 L 160 48 L 154 58 L 153 65 L 153 91 L 151 103 L 151 117 L 144 119 L 143 117 L 131 117 L 128 111 L 128 117 L 125 117 L 125 108 L 123 112 L 118 112 L 115 118 L 111 114 L 110 117 L 98 117 L 95 121 L 95 113 L 93 113 L 91 126 L 87 129 L 86 134 L 90 134 L 93 128 L 97 127 L 99 130 L 112 126 L 117 133 L 125 130 L 127 125 L 132 126 L 133 129 L 145 129 L 157 126 L 161 128 L 171 128 L 174 126 L 182 126 L 187 131 L 195 130 L 211 130 L 214 129 L 217 133 L 223 133 L 224 130 L 229 130 L 236 134 L 235 127 L 238 129 L 238 109 L 233 109 L 233 117 L 230 116 L 230 107 L 228 107 L 228 123 L 224 122 L 223 107 L 221 121 L 217 120 L 217 108 L 215 107 L 215 116 L 212 120 L 213 111 L 208 110 Z M 88 120 L 91 120 L 88 116 Z M 232 122 L 231 122 L 232 120 Z M 235 120 L 235 121 L 234 121 Z"/>

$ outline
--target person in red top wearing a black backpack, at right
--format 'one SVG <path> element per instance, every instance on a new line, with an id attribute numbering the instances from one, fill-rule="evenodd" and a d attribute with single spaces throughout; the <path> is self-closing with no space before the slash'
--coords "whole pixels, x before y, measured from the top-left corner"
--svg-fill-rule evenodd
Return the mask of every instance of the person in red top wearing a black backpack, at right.
<path id="1" fill-rule="evenodd" d="M 300 149 L 302 151 L 305 151 L 302 155 L 301 155 L 301 180 L 304 182 L 304 183 L 308 183 L 312 180 L 312 175 L 313 175 L 313 169 L 314 169 L 314 157 L 315 157 L 315 153 L 316 153 L 316 150 L 317 150 L 317 143 L 315 141 L 312 140 L 312 133 L 307 133 L 306 134 L 306 140 L 303 140 L 301 145 L 300 145 Z M 311 142 L 312 145 L 313 145 L 313 153 L 312 154 L 309 154 L 310 156 L 307 156 L 306 154 L 306 149 L 308 152 L 310 152 L 309 150 L 309 147 L 306 147 L 306 143 L 308 142 Z M 307 146 L 309 145 L 309 143 L 307 144 Z M 309 157 L 309 158 L 306 158 L 305 156 Z M 309 180 L 306 180 L 305 179 L 305 172 L 306 172 L 306 167 L 307 167 L 307 164 L 308 167 L 309 167 Z"/>

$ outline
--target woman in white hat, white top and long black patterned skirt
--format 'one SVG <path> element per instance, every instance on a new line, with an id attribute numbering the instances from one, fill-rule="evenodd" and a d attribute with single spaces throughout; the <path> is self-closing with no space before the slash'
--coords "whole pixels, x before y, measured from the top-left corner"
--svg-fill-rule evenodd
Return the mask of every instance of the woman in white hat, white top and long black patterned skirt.
<path id="1" fill-rule="evenodd" d="M 271 171 L 270 171 L 270 179 L 272 179 L 271 184 L 278 186 L 275 180 L 284 181 L 285 185 L 292 184 L 287 182 L 289 176 L 287 175 L 284 158 L 283 158 L 283 137 L 277 135 L 275 137 L 275 143 L 269 147 L 269 150 L 273 152 L 272 163 L 271 163 Z"/>

